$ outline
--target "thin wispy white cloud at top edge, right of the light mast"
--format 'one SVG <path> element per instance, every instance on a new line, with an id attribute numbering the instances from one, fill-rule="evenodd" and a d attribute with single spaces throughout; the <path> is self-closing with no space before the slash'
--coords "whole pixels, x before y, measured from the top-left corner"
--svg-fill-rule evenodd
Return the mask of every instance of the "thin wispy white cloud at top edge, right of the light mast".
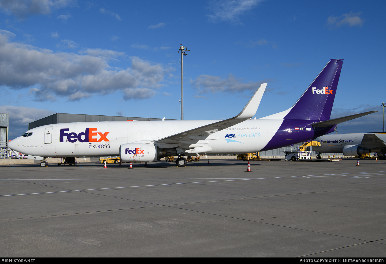
<path id="1" fill-rule="evenodd" d="M 262 0 L 214 1 L 208 7 L 213 14 L 208 15 L 208 17 L 212 22 L 230 21 L 242 25 L 239 19 L 240 15 L 255 8 L 259 2 L 262 2 Z"/>

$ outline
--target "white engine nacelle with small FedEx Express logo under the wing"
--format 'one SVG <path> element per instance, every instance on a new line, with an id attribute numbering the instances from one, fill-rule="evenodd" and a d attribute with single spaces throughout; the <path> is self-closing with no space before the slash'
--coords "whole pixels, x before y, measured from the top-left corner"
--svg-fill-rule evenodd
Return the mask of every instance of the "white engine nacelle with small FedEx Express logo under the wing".
<path id="1" fill-rule="evenodd" d="M 122 162 L 151 162 L 166 157 L 166 151 L 149 143 L 127 143 L 119 147 L 119 156 Z"/>

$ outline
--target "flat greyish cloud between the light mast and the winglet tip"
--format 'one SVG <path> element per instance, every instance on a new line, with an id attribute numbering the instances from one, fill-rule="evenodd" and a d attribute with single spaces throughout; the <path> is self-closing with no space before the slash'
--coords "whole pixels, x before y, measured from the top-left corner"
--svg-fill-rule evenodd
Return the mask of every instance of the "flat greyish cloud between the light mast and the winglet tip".
<path id="1" fill-rule="evenodd" d="M 235 78 L 234 75 L 229 74 L 228 78 L 223 79 L 220 76 L 211 76 L 202 74 L 191 80 L 191 84 L 198 89 L 199 94 L 203 93 L 243 93 L 244 91 L 256 91 L 262 83 L 267 83 L 270 79 L 244 83 L 242 78 Z M 196 97 L 197 98 L 197 97 Z"/>

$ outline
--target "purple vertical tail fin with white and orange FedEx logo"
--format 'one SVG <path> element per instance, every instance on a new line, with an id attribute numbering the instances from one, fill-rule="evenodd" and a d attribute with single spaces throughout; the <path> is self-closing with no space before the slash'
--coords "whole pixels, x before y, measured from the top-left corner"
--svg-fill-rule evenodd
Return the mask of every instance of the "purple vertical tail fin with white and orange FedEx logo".
<path id="1" fill-rule="evenodd" d="M 329 120 L 343 59 L 330 59 L 284 119 Z"/>

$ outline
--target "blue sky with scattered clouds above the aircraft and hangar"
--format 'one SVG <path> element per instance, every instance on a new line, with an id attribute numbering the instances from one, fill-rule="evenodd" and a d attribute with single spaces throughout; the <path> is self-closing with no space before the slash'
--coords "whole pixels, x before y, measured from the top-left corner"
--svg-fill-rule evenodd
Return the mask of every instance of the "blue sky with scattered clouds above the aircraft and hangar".
<path id="1" fill-rule="evenodd" d="M 230 118 L 268 83 L 256 117 L 286 110 L 344 58 L 332 117 L 386 100 L 384 1 L 0 0 L 0 112 L 10 138 L 49 114 Z M 382 112 L 338 133 L 382 130 Z"/>

